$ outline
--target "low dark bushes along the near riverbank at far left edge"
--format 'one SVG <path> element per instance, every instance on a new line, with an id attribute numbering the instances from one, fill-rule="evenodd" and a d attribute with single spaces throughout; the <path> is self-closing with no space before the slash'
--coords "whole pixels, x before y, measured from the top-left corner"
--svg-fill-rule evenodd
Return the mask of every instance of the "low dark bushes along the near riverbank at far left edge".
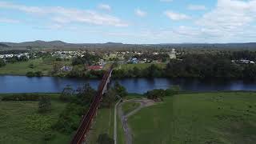
<path id="1" fill-rule="evenodd" d="M 12 94 L 6 95 L 2 101 L 38 101 L 38 94 Z"/>

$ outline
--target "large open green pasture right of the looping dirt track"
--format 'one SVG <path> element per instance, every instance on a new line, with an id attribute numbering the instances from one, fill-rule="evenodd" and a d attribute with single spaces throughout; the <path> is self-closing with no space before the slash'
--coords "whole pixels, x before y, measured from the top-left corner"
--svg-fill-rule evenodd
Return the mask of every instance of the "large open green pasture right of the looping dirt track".
<path id="1" fill-rule="evenodd" d="M 178 94 L 128 119 L 134 144 L 256 142 L 256 93 Z"/>

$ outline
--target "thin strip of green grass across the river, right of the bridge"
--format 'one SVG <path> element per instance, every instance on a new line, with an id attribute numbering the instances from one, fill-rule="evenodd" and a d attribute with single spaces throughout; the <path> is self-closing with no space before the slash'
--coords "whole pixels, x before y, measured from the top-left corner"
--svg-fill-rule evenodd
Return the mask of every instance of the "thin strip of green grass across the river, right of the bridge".
<path id="1" fill-rule="evenodd" d="M 156 65 L 159 67 L 166 67 L 166 63 L 137 63 L 137 64 L 124 64 L 121 65 L 121 69 L 124 70 L 131 70 L 134 69 L 134 67 L 138 67 L 139 69 L 146 69 L 147 67 L 151 66 L 151 65 Z M 120 68 L 119 66 L 117 68 Z"/>

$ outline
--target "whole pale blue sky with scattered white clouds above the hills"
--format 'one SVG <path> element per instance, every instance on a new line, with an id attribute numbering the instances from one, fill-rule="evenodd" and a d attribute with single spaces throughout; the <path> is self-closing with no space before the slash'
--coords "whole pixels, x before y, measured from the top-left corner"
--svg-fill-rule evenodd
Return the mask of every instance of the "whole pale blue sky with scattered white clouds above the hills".
<path id="1" fill-rule="evenodd" d="M 256 42 L 256 0 L 0 0 L 0 42 Z"/>

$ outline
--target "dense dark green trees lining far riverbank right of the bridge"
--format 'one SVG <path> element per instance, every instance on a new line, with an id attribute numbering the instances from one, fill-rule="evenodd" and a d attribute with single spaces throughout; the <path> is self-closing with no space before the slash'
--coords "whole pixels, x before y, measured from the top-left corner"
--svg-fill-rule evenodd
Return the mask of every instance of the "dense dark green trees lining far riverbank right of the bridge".
<path id="1" fill-rule="evenodd" d="M 250 56 L 248 56 L 250 54 Z M 256 65 L 238 64 L 232 59 L 256 58 L 254 52 L 235 52 L 234 54 L 186 54 L 181 59 L 173 59 L 165 68 L 152 64 L 141 69 L 114 70 L 114 78 L 225 78 L 256 80 Z"/>

